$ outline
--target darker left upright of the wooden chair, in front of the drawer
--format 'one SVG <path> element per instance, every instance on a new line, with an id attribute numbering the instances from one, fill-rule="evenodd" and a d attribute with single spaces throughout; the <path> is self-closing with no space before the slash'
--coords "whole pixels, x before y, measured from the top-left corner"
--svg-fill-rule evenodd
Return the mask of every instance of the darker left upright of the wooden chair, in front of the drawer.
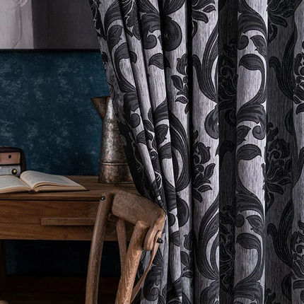
<path id="1" fill-rule="evenodd" d="M 101 255 L 103 253 L 103 240 L 107 226 L 107 216 L 110 212 L 113 195 L 105 194 L 100 199 L 95 219 L 92 243 L 90 245 L 90 259 L 88 262 L 88 276 L 86 281 L 86 304 L 98 303 L 98 285 L 100 276 Z"/>

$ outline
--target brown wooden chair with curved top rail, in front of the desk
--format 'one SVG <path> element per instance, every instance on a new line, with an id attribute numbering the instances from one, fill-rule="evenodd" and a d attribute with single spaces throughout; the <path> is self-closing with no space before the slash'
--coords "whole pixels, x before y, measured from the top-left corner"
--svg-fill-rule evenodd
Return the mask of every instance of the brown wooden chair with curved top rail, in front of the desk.
<path id="1" fill-rule="evenodd" d="M 129 304 L 134 300 L 156 255 L 165 225 L 165 213 L 153 201 L 129 192 L 105 193 L 100 198 L 90 247 L 86 304 L 98 303 L 100 263 L 109 214 L 115 218 L 122 268 L 115 304 Z M 128 249 L 124 221 L 135 226 Z M 144 275 L 134 286 L 143 250 L 151 251 L 151 259 Z"/>

